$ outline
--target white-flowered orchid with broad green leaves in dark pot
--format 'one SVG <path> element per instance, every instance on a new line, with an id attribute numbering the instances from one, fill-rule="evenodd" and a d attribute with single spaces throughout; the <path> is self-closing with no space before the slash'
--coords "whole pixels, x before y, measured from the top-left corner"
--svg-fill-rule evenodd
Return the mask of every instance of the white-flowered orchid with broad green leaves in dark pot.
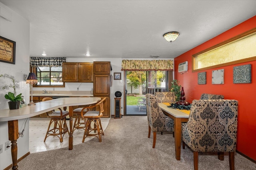
<path id="1" fill-rule="evenodd" d="M 12 84 L 10 85 L 7 85 L 5 84 L 2 89 L 6 89 L 6 90 L 9 90 L 9 88 L 13 88 L 14 92 L 8 92 L 8 94 L 6 94 L 4 96 L 4 98 L 12 101 L 12 102 L 17 102 L 17 101 L 22 101 L 22 97 L 21 97 L 21 94 L 17 95 L 16 96 L 16 88 L 20 88 L 20 85 L 18 84 L 18 81 L 15 80 L 14 76 L 11 76 L 9 74 L 0 74 L 0 77 L 3 77 L 3 78 L 10 78 L 11 81 L 12 81 Z"/>

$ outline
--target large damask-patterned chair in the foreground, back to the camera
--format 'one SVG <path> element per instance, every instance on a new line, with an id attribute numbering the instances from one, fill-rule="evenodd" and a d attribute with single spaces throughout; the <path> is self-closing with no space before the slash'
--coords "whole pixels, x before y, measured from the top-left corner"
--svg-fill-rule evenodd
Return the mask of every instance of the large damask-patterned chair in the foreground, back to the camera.
<path id="1" fill-rule="evenodd" d="M 193 100 L 188 122 L 182 124 L 182 147 L 194 151 L 194 169 L 198 169 L 198 152 L 218 152 L 224 160 L 229 153 L 229 166 L 234 170 L 236 151 L 237 100 Z"/>

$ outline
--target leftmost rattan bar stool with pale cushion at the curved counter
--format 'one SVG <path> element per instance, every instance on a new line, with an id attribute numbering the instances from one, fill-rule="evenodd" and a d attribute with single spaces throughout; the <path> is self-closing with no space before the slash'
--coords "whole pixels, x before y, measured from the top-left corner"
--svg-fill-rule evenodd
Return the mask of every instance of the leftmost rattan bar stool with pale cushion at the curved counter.
<path id="1" fill-rule="evenodd" d="M 52 98 L 43 98 L 42 102 L 47 101 L 47 100 L 52 100 Z M 50 113 L 46 112 L 47 117 L 50 118 L 50 123 L 44 138 L 44 142 L 46 141 L 46 138 L 49 136 L 57 136 L 60 139 L 60 142 L 63 142 L 63 136 L 65 133 L 68 133 L 68 126 L 66 123 L 66 116 L 69 114 L 68 111 L 65 111 L 60 108 L 58 108 L 59 111 L 52 111 Z M 52 129 L 51 125 L 53 124 Z"/>

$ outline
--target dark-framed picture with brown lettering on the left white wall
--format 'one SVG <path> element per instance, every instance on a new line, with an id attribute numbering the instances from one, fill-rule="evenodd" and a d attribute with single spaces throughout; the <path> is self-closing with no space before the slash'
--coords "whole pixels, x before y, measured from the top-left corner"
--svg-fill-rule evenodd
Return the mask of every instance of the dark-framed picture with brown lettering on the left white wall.
<path id="1" fill-rule="evenodd" d="M 16 42 L 0 36 L 0 61 L 15 64 Z"/>

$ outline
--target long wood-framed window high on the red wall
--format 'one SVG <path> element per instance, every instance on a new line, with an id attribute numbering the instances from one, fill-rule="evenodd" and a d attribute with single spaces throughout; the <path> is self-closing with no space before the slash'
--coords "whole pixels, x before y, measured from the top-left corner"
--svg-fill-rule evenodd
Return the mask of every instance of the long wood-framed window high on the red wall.
<path id="1" fill-rule="evenodd" d="M 251 29 L 193 56 L 193 72 L 256 59 L 256 29 Z"/>

